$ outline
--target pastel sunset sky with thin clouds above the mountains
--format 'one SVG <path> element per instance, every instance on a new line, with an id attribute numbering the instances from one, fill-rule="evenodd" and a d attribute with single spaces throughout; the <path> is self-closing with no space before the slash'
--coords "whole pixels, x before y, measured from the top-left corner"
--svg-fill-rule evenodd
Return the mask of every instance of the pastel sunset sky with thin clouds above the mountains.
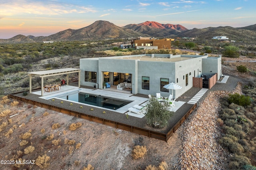
<path id="1" fill-rule="evenodd" d="M 0 0 L 0 39 L 48 36 L 104 20 L 156 21 L 187 29 L 256 24 L 256 0 Z"/>

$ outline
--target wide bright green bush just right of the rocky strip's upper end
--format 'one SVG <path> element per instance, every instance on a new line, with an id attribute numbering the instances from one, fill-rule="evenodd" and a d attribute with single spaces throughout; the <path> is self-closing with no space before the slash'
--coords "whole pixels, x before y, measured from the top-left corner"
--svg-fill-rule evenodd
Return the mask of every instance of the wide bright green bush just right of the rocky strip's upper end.
<path id="1" fill-rule="evenodd" d="M 236 94 L 229 94 L 228 95 L 228 102 L 240 105 L 240 106 L 249 106 L 251 104 L 251 98 L 250 96 L 244 96 L 240 95 L 238 93 Z"/>

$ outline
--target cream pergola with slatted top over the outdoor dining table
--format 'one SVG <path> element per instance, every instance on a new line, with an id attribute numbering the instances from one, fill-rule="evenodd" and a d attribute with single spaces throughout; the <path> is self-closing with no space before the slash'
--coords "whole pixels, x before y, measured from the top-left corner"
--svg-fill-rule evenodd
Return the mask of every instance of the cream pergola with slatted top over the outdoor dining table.
<path id="1" fill-rule="evenodd" d="M 67 74 L 67 85 L 68 85 L 68 74 L 78 72 L 78 87 L 80 88 L 80 69 L 79 68 L 60 68 L 55 70 L 44 70 L 44 71 L 36 71 L 36 72 L 28 72 L 29 75 L 29 92 L 32 92 L 32 76 L 39 75 L 41 78 L 41 96 L 44 96 L 43 93 L 43 84 L 44 84 L 44 77 L 50 76 L 58 76 L 62 74 Z"/>

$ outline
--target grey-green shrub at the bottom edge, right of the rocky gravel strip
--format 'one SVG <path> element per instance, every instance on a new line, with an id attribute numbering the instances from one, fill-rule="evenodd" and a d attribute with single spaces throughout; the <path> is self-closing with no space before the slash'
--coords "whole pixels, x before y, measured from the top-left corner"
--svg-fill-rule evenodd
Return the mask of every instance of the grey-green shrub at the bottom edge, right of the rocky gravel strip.
<path id="1" fill-rule="evenodd" d="M 231 157 L 231 161 L 228 164 L 228 167 L 231 170 L 238 170 L 238 169 L 242 169 L 245 165 L 248 165 L 248 164 L 251 164 L 248 158 L 246 158 L 245 156 L 235 155 Z"/>

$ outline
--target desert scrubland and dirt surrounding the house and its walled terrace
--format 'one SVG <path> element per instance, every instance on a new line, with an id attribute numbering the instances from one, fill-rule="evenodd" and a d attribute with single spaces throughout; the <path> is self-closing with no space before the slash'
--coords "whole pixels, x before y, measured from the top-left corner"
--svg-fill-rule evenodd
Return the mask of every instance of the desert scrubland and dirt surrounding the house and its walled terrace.
<path id="1" fill-rule="evenodd" d="M 12 39 L 11 43 L 0 44 L 0 158 L 6 160 L 0 165 L 1 169 L 256 169 L 256 47 L 253 41 L 176 39 L 172 49 L 158 50 L 119 49 L 112 45 L 118 41 L 123 40 L 14 43 Z M 204 96 L 168 142 L 8 97 L 8 94 L 28 90 L 27 72 L 79 68 L 79 59 L 86 57 L 147 53 L 222 55 L 223 74 L 239 81 L 230 91 L 214 89 Z M 70 76 L 70 82 L 78 81 L 76 77 Z M 46 82 L 60 80 L 62 77 L 52 77 Z M 40 87 L 40 78 L 32 81 L 34 89 Z"/>

